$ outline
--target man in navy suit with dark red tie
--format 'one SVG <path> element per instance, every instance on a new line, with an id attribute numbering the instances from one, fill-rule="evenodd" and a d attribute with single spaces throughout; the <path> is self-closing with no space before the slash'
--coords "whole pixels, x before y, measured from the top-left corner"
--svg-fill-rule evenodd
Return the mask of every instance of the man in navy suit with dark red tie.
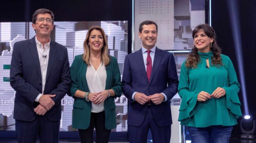
<path id="1" fill-rule="evenodd" d="M 170 143 L 171 98 L 177 93 L 178 76 L 173 54 L 158 49 L 157 24 L 139 26 L 142 48 L 125 57 L 123 93 L 129 100 L 130 143 L 146 143 L 149 129 L 154 143 Z"/>

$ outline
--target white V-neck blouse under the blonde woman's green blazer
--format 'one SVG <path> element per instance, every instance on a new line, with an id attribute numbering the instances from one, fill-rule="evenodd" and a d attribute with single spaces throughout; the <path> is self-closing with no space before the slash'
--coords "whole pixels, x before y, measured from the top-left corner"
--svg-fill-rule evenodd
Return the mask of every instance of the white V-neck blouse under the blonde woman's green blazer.
<path id="1" fill-rule="evenodd" d="M 106 87 L 106 80 L 107 80 L 105 65 L 101 63 L 97 70 L 94 69 L 94 67 L 92 66 L 92 63 L 90 66 L 87 66 L 86 80 L 87 80 L 87 84 L 90 92 L 93 93 L 93 92 L 104 91 Z M 91 112 L 99 113 L 102 111 L 104 111 L 104 102 L 98 105 L 92 103 Z"/>

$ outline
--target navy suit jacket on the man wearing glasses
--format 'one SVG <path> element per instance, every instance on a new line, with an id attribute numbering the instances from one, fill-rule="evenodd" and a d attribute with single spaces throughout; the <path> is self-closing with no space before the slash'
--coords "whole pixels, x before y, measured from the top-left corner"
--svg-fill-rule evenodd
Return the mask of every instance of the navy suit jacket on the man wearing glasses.
<path id="1" fill-rule="evenodd" d="M 60 101 L 69 90 L 70 83 L 67 48 L 51 40 L 44 94 L 56 96 L 52 98 L 55 105 L 44 115 L 49 120 L 61 119 Z M 10 84 L 16 91 L 14 119 L 35 120 L 39 115 L 34 112 L 34 108 L 39 103 L 34 101 L 38 94 L 42 93 L 42 75 L 35 37 L 14 44 Z"/>

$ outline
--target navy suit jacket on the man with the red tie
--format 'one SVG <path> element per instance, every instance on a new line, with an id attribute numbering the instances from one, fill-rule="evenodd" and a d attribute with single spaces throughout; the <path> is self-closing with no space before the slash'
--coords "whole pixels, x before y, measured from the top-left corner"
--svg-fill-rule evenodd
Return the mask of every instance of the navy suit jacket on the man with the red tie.
<path id="1" fill-rule="evenodd" d="M 150 81 L 148 81 L 142 49 L 128 54 L 124 59 L 122 77 L 123 93 L 129 100 L 128 125 L 140 126 L 144 121 L 147 104 L 141 105 L 132 99 L 132 94 L 141 92 L 147 96 L 163 92 L 167 101 L 159 105 L 151 102 L 153 118 L 158 126 L 170 126 L 171 98 L 177 93 L 178 75 L 173 54 L 156 47 Z"/>

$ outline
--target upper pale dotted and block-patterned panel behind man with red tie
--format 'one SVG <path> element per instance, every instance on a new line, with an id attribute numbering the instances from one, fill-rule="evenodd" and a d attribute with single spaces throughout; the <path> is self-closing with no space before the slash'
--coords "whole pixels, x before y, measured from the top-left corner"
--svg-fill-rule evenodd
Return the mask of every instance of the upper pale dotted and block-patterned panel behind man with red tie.
<path id="1" fill-rule="evenodd" d="M 139 24 L 145 20 L 158 25 L 156 46 L 164 50 L 189 50 L 192 31 L 205 23 L 204 0 L 135 0 L 134 50 L 140 49 Z"/>

